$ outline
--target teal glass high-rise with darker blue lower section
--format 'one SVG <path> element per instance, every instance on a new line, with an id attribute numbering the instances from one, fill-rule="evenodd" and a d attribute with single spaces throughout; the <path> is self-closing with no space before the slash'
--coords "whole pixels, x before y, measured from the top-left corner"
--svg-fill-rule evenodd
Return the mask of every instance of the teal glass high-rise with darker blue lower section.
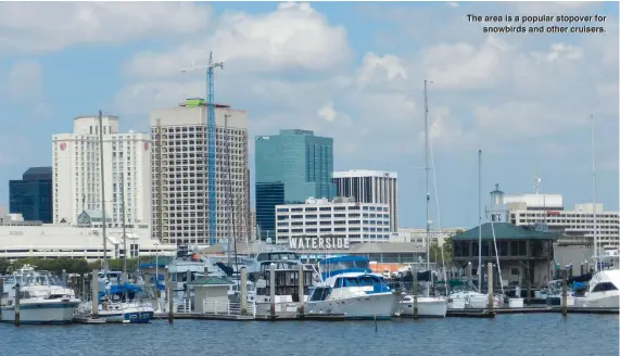
<path id="1" fill-rule="evenodd" d="M 255 138 L 256 224 L 261 239 L 275 238 L 276 205 L 336 195 L 333 139 L 308 130 Z"/>

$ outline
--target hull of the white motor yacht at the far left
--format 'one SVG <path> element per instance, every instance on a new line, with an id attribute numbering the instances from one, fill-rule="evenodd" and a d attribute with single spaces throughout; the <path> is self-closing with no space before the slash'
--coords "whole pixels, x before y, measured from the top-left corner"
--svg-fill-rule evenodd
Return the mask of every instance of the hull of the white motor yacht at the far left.
<path id="1" fill-rule="evenodd" d="M 20 306 L 20 323 L 71 323 L 79 302 L 28 303 Z M 15 306 L 3 306 L 2 321 L 15 321 Z"/>

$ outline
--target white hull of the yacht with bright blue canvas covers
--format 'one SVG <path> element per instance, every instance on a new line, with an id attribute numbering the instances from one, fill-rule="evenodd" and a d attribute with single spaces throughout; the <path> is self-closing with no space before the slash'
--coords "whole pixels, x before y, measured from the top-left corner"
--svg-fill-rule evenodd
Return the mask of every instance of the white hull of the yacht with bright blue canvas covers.
<path id="1" fill-rule="evenodd" d="M 343 314 L 346 319 L 390 319 L 396 295 L 391 292 L 308 302 L 307 314 Z"/>

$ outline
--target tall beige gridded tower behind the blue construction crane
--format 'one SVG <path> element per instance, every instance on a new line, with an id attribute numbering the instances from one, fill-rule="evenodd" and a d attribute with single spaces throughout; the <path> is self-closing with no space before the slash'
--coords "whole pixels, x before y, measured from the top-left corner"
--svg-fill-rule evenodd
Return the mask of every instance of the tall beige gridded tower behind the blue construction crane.
<path id="1" fill-rule="evenodd" d="M 216 220 L 208 221 L 206 111 L 204 99 L 188 99 L 150 114 L 153 231 L 166 243 L 213 243 L 210 227 L 216 242 L 250 237 L 248 113 L 215 105 Z"/>

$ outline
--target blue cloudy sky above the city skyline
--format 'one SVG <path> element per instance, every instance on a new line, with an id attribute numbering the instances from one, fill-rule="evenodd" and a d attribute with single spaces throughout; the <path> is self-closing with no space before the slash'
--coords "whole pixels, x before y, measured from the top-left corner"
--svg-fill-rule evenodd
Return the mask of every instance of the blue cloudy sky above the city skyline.
<path id="1" fill-rule="evenodd" d="M 204 74 L 179 69 L 213 51 L 225 62 L 216 102 L 249 113 L 252 170 L 255 136 L 315 130 L 333 138 L 336 170 L 396 171 L 401 227 L 425 226 L 427 79 L 434 227 L 478 224 L 478 150 L 483 206 L 495 183 L 533 193 L 536 176 L 567 208 L 591 202 L 590 115 L 597 200 L 617 211 L 618 13 L 617 2 L 3 2 L 0 205 L 10 179 L 51 165 L 51 137 L 73 117 L 102 110 L 148 131 L 150 110 L 204 97 Z M 606 33 L 484 34 L 498 24 L 468 14 L 599 14 L 555 25 Z"/>

